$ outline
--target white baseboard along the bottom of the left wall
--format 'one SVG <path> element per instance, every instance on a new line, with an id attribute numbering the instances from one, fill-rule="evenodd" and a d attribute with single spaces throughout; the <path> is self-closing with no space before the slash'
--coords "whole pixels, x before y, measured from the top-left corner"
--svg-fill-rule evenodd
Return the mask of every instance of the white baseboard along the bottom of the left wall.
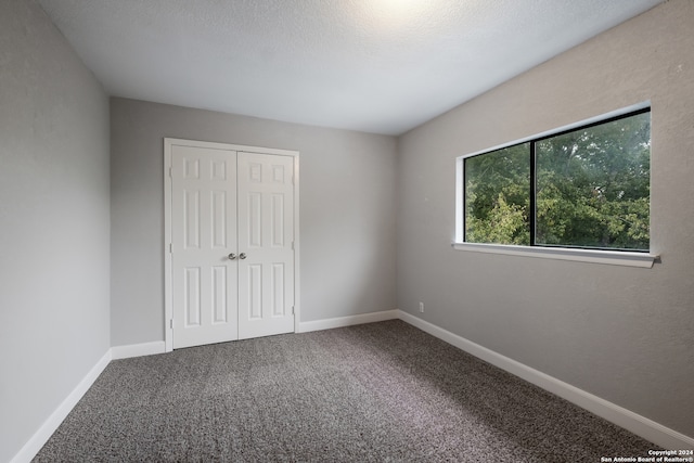
<path id="1" fill-rule="evenodd" d="M 55 433 L 55 429 L 63 423 L 63 420 L 73 411 L 77 402 L 79 402 L 79 399 L 81 399 L 91 385 L 94 384 L 94 381 L 97 381 L 99 375 L 108 365 L 108 362 L 111 362 L 111 349 L 104 353 L 65 400 L 57 406 L 41 427 L 39 427 L 34 436 L 31 436 L 24 447 L 14 455 L 11 463 L 28 463 L 36 456 L 39 450 L 48 442 L 48 439 Z"/>

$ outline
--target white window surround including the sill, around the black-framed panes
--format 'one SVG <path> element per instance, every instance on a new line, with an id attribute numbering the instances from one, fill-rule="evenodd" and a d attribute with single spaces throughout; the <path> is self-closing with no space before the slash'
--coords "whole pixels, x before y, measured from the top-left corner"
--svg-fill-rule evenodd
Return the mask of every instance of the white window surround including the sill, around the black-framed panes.
<path id="1" fill-rule="evenodd" d="M 628 250 L 609 250 L 609 249 L 580 249 L 574 247 L 550 247 L 550 246 L 519 246 L 519 245 L 505 245 L 505 244 L 488 244 L 488 243 L 466 243 L 465 230 L 464 230 L 464 159 L 467 157 L 476 156 L 484 153 L 490 153 L 492 151 L 502 150 L 504 147 L 522 144 L 539 138 L 544 138 L 566 130 L 571 130 L 578 127 L 587 126 L 601 120 L 609 119 L 612 117 L 622 116 L 628 113 L 632 113 L 639 110 L 644 110 L 651 106 L 650 101 L 638 103 L 628 107 L 622 107 L 611 113 L 606 113 L 600 116 L 591 117 L 586 120 L 581 120 L 575 124 L 570 124 L 556 129 L 548 130 L 545 132 L 537 133 L 530 137 L 526 137 L 519 140 L 514 140 L 509 143 L 504 143 L 494 147 L 477 151 L 474 153 L 465 154 L 455 158 L 455 239 L 453 242 L 453 248 L 457 250 L 466 250 L 475 253 L 489 253 L 489 254 L 503 254 L 509 256 L 522 256 L 522 257 L 538 257 L 544 259 L 557 259 L 557 260 L 574 260 L 579 262 L 591 263 L 605 263 L 615 266 L 627 267 L 642 267 L 651 268 L 653 263 L 658 259 L 658 255 L 654 254 L 653 246 L 648 253 L 642 252 L 628 252 Z"/>

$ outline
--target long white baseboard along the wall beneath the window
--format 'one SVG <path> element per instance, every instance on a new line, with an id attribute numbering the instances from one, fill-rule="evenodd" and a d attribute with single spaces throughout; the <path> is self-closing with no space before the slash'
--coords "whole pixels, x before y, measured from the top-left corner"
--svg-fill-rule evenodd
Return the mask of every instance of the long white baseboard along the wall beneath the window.
<path id="1" fill-rule="evenodd" d="M 420 330 L 438 337 L 441 340 L 451 344 L 473 356 L 491 363 L 502 370 L 507 371 L 523 380 L 541 387 L 563 399 L 577 404 L 578 407 L 596 414 L 611 423 L 622 427 L 637 436 L 656 443 L 664 449 L 681 450 L 694 449 L 694 438 L 685 436 L 669 427 L 663 426 L 645 416 L 641 416 L 630 410 L 619 407 L 607 400 L 601 399 L 590 393 L 578 387 L 564 383 L 553 376 L 544 374 L 528 365 L 517 362 L 501 353 L 494 352 L 479 344 L 465 339 L 462 336 L 446 331 L 435 324 L 424 321 L 410 313 L 398 310 L 398 318 Z"/>

